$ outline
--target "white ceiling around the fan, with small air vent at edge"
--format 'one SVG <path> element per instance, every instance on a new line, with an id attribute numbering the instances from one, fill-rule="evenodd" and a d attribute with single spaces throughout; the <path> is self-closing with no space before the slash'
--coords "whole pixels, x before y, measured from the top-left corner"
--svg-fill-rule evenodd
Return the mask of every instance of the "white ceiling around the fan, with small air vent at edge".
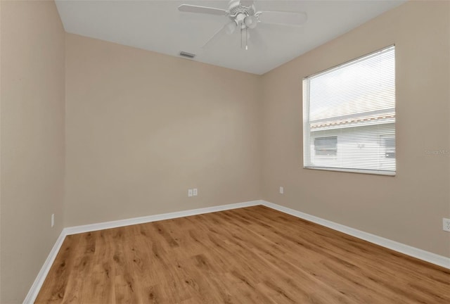
<path id="1" fill-rule="evenodd" d="M 56 0 L 56 6 L 66 32 L 171 56 L 187 51 L 197 55 L 195 61 L 261 75 L 404 2 L 257 0 L 257 11 L 304 11 L 308 20 L 302 27 L 259 23 L 255 30 L 264 47 L 249 43 L 248 51 L 240 48 L 238 31 L 202 49 L 229 19 L 177 9 L 180 4 L 227 9 L 228 1 Z"/>

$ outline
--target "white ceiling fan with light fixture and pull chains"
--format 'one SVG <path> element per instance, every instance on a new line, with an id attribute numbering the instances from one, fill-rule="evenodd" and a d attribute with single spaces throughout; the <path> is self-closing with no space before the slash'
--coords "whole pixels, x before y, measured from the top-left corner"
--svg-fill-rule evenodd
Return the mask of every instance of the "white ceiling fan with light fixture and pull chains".
<path id="1" fill-rule="evenodd" d="M 252 30 L 252 41 L 261 44 L 259 34 L 255 31 L 258 23 L 299 26 L 307 21 L 307 14 L 304 12 L 287 12 L 287 11 L 257 11 L 255 1 L 248 0 L 231 0 L 228 9 L 212 8 L 206 6 L 195 6 L 190 4 L 182 4 L 178 10 L 186 13 L 205 13 L 210 15 L 223 15 L 229 17 L 231 21 L 226 23 L 220 30 L 212 35 L 210 39 L 203 44 L 205 48 L 214 40 L 219 39 L 226 34 L 233 34 L 236 30 L 240 30 L 240 46 L 248 49 L 248 40 Z"/>

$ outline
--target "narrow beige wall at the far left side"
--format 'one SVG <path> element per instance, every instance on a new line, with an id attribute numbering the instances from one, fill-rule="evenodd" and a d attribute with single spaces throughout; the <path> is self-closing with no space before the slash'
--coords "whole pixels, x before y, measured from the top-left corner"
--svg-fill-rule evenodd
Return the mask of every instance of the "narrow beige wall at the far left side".
<path id="1" fill-rule="evenodd" d="M 2 1 L 0 303 L 23 301 L 63 228 L 64 37 L 53 1 Z"/>

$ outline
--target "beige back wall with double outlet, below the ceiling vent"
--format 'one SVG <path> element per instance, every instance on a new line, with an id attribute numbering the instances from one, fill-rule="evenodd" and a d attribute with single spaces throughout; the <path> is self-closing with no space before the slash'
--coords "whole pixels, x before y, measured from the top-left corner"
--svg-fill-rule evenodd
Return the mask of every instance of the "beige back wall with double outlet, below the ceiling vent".
<path id="1" fill-rule="evenodd" d="M 67 34 L 65 226 L 259 199 L 259 80 Z"/>

